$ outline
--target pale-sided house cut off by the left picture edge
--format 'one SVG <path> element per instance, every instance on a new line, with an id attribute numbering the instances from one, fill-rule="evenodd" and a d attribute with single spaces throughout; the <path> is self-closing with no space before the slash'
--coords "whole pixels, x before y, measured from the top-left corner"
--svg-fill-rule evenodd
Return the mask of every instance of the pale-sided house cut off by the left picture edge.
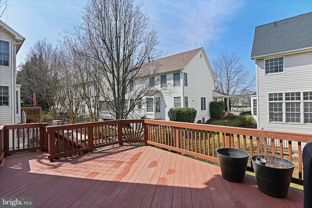
<path id="1" fill-rule="evenodd" d="M 21 122 L 16 54 L 25 38 L 0 20 L 0 125 Z"/>

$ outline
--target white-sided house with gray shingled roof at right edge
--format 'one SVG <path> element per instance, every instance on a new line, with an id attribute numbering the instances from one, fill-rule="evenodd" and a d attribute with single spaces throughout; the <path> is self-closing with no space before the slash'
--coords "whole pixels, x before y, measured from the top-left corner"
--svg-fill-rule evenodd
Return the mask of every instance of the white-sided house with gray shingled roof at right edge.
<path id="1" fill-rule="evenodd" d="M 256 27 L 251 59 L 258 128 L 312 133 L 312 13 Z"/>

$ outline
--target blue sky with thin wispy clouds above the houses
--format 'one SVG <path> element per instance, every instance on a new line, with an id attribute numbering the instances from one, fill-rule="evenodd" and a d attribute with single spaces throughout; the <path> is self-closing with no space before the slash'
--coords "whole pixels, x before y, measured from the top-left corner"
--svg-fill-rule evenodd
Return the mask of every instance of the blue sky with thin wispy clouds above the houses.
<path id="1" fill-rule="evenodd" d="M 73 31 L 82 22 L 81 9 L 86 2 L 8 0 L 1 20 L 26 38 L 17 65 L 24 62 L 38 39 L 56 44 L 59 33 Z M 250 59 L 254 28 L 312 12 L 312 0 L 145 0 L 142 9 L 150 17 L 149 25 L 158 31 L 158 47 L 166 55 L 204 47 L 212 62 L 219 52 L 234 51 L 254 73 Z"/>

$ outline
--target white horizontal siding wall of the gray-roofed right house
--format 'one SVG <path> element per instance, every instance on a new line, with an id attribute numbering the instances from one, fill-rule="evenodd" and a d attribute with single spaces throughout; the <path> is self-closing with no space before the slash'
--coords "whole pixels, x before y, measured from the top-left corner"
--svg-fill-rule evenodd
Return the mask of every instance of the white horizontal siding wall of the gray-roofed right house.
<path id="1" fill-rule="evenodd" d="M 265 74 L 264 60 L 257 60 L 258 128 L 312 133 L 311 123 L 269 122 L 269 93 L 312 91 L 312 52 L 284 56 L 284 72 Z M 303 108 L 300 108 L 301 112 Z"/>

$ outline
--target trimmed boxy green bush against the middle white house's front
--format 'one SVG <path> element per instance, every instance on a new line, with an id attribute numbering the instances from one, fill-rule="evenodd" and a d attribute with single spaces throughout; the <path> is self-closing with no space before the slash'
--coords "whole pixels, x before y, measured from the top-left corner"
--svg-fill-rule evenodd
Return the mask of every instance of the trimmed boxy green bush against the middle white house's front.
<path id="1" fill-rule="evenodd" d="M 182 121 L 194 123 L 197 111 L 194 107 L 175 107 L 170 108 L 168 117 L 170 121 Z"/>

